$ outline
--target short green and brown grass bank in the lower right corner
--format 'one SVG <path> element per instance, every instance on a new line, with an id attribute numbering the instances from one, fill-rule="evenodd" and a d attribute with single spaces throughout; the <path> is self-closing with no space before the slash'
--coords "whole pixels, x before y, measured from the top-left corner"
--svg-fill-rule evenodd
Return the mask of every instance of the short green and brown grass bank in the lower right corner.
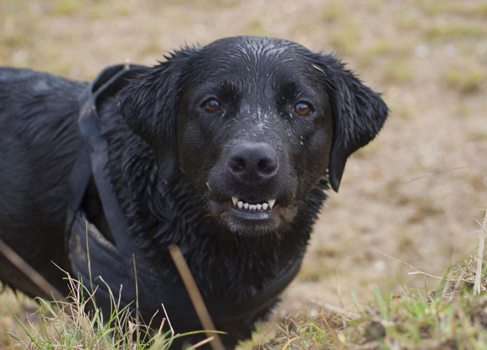
<path id="1" fill-rule="evenodd" d="M 355 312 L 327 306 L 315 317 L 287 316 L 275 338 L 254 350 L 487 349 L 487 295 L 473 295 L 473 264 L 464 261 L 432 291 L 375 289 L 365 305 L 352 285 Z"/>

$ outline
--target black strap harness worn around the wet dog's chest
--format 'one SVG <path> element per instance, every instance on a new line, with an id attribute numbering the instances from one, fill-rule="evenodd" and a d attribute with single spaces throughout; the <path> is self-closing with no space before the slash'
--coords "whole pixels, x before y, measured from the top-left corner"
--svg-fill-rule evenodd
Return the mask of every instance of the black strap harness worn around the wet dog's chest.
<path id="1" fill-rule="evenodd" d="M 182 283 L 174 283 L 150 262 L 144 253 L 132 244 L 128 224 L 116 195 L 112 192 L 111 179 L 106 168 L 108 161 L 105 129 L 107 116 L 100 115 L 98 103 L 114 97 L 129 79 L 147 67 L 115 65 L 104 69 L 85 89 L 79 99 L 78 126 L 84 141 L 70 178 L 70 199 L 66 219 L 66 243 L 75 276 L 89 288 L 88 253 L 95 293 L 96 306 L 110 312 L 119 298 L 121 305 L 130 303 L 135 309 L 136 284 L 138 287 L 139 312 L 148 322 L 155 311 L 157 319 L 164 317 L 161 303 L 168 311 L 169 319 L 177 332 L 201 329 L 189 296 Z M 105 118 L 105 119 L 104 119 Z M 93 176 L 106 221 L 114 244 L 88 222 L 80 209 L 90 178 Z M 137 283 L 132 254 L 135 257 Z M 280 292 L 297 274 L 301 257 L 289 261 L 279 276 L 264 291 L 240 302 L 219 301 L 205 298 L 206 307 L 217 325 L 253 322 L 262 311 L 273 305 Z M 98 276 L 101 276 L 99 278 Z M 107 285 L 113 295 L 110 295 Z M 107 314 L 107 316 L 109 316 Z M 107 317 L 106 316 L 106 317 Z M 107 317 L 108 319 L 108 317 Z M 157 327 L 157 324 L 156 324 Z"/>

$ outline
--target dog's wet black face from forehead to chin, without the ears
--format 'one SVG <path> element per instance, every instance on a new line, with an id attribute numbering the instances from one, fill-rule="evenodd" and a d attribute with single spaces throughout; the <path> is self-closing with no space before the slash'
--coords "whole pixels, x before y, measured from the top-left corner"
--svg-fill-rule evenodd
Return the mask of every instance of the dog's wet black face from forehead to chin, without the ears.
<path id="1" fill-rule="evenodd" d="M 180 169 L 230 231 L 283 229 L 322 175 L 333 138 L 324 72 L 284 40 L 232 38 L 194 54 L 180 77 Z"/>

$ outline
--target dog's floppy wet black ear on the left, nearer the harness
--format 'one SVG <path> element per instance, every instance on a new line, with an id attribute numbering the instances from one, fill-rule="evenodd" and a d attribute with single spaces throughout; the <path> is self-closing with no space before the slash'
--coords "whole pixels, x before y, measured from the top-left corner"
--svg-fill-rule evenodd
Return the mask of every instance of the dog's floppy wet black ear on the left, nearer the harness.
<path id="1" fill-rule="evenodd" d="M 128 126 L 153 151 L 159 174 L 166 182 L 179 172 L 176 140 L 178 85 L 190 49 L 167 57 L 167 61 L 141 72 L 120 92 L 120 112 Z"/>

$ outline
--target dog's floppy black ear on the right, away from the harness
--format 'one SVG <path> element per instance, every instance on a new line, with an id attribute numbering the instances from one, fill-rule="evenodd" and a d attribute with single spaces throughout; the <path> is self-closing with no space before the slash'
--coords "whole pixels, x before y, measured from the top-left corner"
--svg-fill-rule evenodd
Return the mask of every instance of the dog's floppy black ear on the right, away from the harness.
<path id="1" fill-rule="evenodd" d="M 375 137 L 389 109 L 380 94 L 362 84 L 337 58 L 320 55 L 318 60 L 318 70 L 325 73 L 333 111 L 328 172 L 332 188 L 338 191 L 348 156 Z"/>

